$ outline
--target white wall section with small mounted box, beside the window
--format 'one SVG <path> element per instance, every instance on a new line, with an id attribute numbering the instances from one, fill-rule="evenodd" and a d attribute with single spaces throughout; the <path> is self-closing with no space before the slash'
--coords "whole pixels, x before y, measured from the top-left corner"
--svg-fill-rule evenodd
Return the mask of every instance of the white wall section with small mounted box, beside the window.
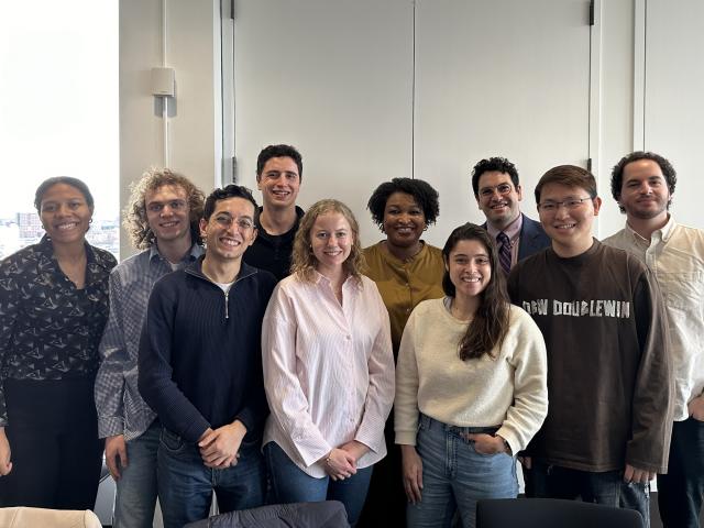
<path id="1" fill-rule="evenodd" d="M 162 6 L 166 7 L 163 51 Z M 130 183 L 150 166 L 168 165 L 205 191 L 220 180 L 219 0 L 120 1 L 120 206 Z M 176 70 L 164 158 L 162 107 L 151 90 L 153 67 Z M 120 253 L 134 252 L 122 232 Z"/>

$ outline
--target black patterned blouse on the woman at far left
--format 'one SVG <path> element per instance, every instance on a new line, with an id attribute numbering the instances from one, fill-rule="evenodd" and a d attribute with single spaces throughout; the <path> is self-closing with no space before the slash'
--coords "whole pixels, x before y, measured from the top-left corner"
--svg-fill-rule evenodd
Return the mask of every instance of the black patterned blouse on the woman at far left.
<path id="1" fill-rule="evenodd" d="M 86 243 L 82 289 L 62 272 L 48 237 L 0 263 L 0 426 L 4 380 L 95 377 L 108 320 L 112 254 Z"/>

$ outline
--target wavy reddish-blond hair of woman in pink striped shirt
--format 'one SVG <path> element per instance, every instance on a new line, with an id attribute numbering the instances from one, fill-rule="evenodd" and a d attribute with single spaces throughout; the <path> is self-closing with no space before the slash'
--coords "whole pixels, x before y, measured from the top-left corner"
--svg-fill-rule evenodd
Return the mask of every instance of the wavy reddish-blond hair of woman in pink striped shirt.
<path id="1" fill-rule="evenodd" d="M 365 267 L 362 243 L 360 242 L 360 226 L 352 213 L 352 210 L 341 201 L 324 199 L 314 204 L 300 219 L 296 238 L 294 239 L 294 251 L 292 254 L 290 273 L 298 274 L 305 280 L 314 279 L 314 271 L 318 260 L 310 249 L 310 232 L 318 217 L 328 212 L 338 212 L 344 217 L 352 229 L 352 248 L 350 256 L 344 261 L 343 268 L 351 276 L 361 280 L 362 271 Z"/>

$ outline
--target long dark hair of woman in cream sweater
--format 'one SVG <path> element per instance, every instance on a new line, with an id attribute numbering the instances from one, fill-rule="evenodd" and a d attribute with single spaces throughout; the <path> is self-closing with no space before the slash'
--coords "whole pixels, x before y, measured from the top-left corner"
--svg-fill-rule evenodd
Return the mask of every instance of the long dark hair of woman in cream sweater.
<path id="1" fill-rule="evenodd" d="M 442 275 L 442 289 L 448 297 L 455 296 L 455 287 L 450 279 L 450 253 L 462 240 L 476 240 L 486 249 L 492 277 L 486 288 L 481 294 L 481 302 L 474 315 L 474 319 L 468 324 L 466 332 L 460 340 L 458 353 L 462 361 L 479 359 L 484 354 L 496 359 L 494 348 L 501 345 L 508 331 L 509 300 L 506 292 L 506 278 L 498 265 L 496 245 L 488 232 L 474 223 L 465 223 L 455 228 L 442 248 L 442 256 L 446 262 Z"/>

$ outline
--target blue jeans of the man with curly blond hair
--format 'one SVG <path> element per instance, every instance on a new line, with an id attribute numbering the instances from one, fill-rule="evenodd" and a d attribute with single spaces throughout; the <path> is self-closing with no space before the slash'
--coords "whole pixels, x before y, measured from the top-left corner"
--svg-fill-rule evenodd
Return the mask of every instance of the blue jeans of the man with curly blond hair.
<path id="1" fill-rule="evenodd" d="M 152 528 L 156 506 L 156 452 L 162 426 L 158 420 L 127 442 L 128 466 L 117 482 L 113 528 Z"/>

